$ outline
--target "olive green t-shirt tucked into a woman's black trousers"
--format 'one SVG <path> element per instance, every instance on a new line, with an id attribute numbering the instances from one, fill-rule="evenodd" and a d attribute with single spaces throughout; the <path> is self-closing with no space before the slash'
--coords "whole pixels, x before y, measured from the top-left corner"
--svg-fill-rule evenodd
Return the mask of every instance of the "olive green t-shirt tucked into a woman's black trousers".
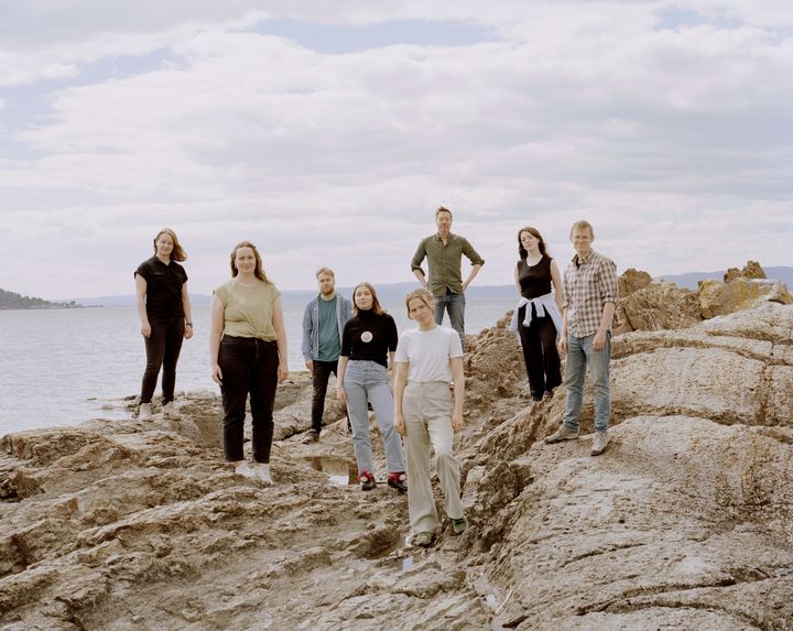
<path id="1" fill-rule="evenodd" d="M 230 280 L 215 290 L 215 295 L 224 304 L 224 335 L 256 337 L 267 341 L 278 338 L 272 315 L 281 292 L 275 285 L 258 281 L 248 289 Z"/>

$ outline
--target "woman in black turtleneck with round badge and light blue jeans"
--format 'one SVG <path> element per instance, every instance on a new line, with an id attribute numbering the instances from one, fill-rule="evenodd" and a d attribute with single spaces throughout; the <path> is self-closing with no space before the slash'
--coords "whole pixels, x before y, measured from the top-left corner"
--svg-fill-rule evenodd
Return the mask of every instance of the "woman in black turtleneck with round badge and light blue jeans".
<path id="1" fill-rule="evenodd" d="M 369 435 L 369 410 L 374 410 L 385 445 L 388 486 L 408 490 L 402 442 L 393 426 L 393 394 L 388 384 L 389 357 L 397 350 L 397 324 L 380 306 L 374 287 L 360 283 L 352 291 L 351 319 L 341 335 L 336 398 L 347 403 L 352 425 L 352 447 L 358 463 L 361 489 L 370 491 L 374 482 L 374 460 Z"/>

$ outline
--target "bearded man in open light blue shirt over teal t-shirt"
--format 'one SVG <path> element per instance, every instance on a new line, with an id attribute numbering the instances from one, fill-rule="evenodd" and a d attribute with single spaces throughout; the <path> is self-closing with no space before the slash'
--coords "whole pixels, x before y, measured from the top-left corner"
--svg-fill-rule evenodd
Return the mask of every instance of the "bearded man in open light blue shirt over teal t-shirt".
<path id="1" fill-rule="evenodd" d="M 303 437 L 304 443 L 319 439 L 327 382 L 332 372 L 338 377 L 341 334 L 345 324 L 352 316 L 350 301 L 336 293 L 334 271 L 319 268 L 316 279 L 319 294 L 306 305 L 303 314 L 303 358 L 306 368 L 312 372 L 314 383 L 312 428 Z"/>

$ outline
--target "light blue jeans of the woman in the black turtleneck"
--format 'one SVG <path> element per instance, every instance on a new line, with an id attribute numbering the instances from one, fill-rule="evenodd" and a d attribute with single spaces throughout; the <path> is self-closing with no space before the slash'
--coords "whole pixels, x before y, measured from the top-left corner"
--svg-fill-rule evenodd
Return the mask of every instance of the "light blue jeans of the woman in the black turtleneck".
<path id="1" fill-rule="evenodd" d="M 358 472 L 369 471 L 374 475 L 367 400 L 372 404 L 383 437 L 389 472 L 404 471 L 402 442 L 393 426 L 393 394 L 388 384 L 385 367 L 377 361 L 350 360 L 345 370 L 344 382 Z"/>

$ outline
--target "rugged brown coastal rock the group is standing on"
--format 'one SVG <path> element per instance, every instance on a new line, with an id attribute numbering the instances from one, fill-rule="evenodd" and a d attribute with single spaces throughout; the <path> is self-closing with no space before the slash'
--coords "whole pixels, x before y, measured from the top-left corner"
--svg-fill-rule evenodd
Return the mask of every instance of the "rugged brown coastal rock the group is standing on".
<path id="1" fill-rule="evenodd" d="M 279 390 L 273 487 L 221 461 L 209 393 L 3 437 L 1 628 L 793 629 L 793 306 L 615 337 L 598 458 L 588 396 L 585 435 L 542 443 L 564 389 L 529 400 L 506 324 L 469 338 L 471 527 L 428 550 L 403 496 L 317 470 L 351 446 L 343 418 L 301 443 L 305 379 Z"/>

